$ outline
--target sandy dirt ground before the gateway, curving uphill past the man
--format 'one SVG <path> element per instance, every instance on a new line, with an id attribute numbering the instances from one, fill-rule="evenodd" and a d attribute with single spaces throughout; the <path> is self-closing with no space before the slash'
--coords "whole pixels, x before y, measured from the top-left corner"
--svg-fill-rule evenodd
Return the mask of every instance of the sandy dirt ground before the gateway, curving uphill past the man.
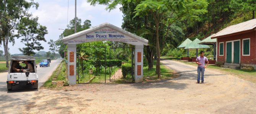
<path id="1" fill-rule="evenodd" d="M 172 60 L 164 65 L 180 77 L 138 84 L 78 84 L 65 90 L 39 89 L 23 113 L 255 113 L 256 85 L 217 71 L 205 71 L 196 84 L 196 67 Z"/>

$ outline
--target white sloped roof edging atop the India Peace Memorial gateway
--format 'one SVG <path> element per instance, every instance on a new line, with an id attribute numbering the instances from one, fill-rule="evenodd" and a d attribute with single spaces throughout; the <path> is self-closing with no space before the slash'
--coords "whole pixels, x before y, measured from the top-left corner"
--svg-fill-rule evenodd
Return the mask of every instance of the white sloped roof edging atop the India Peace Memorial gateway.
<path id="1" fill-rule="evenodd" d="M 79 36 L 86 35 L 87 33 L 93 32 L 95 30 L 98 30 L 99 28 L 103 28 L 103 27 L 106 27 L 106 26 L 110 27 L 110 28 L 113 28 L 113 29 L 115 29 L 115 30 L 117 30 L 117 31 L 119 31 L 121 33 L 124 33 L 124 34 L 130 36 L 131 38 L 134 38 L 134 39 L 138 40 L 143 45 L 146 45 L 146 46 L 148 45 L 148 40 L 146 40 L 146 39 L 144 39 L 144 38 L 142 38 L 140 36 L 134 35 L 133 33 L 130 33 L 128 31 L 126 31 L 126 30 L 123 30 L 123 29 L 121 29 L 119 27 L 116 27 L 115 25 L 109 24 L 107 22 L 104 23 L 104 24 L 100 24 L 100 25 L 97 25 L 95 27 L 91 27 L 89 29 L 86 29 L 86 30 L 74 33 L 72 35 L 66 36 L 66 37 L 63 38 L 63 42 L 66 42 L 66 41 L 69 41 L 69 40 L 73 40 L 73 39 L 75 39 L 75 38 L 77 38 Z"/>

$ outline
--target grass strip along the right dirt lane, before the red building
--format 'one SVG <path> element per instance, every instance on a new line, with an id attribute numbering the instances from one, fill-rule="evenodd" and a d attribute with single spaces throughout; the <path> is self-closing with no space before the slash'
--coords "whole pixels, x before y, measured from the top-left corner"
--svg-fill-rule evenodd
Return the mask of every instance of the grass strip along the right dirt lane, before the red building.
<path id="1" fill-rule="evenodd" d="M 173 57 L 161 57 L 161 58 L 175 60 L 175 61 L 178 61 L 181 63 L 185 63 L 187 65 L 193 65 L 193 66 L 197 67 L 196 63 L 179 61 L 178 60 L 179 58 L 173 58 Z M 220 67 L 217 67 L 216 65 L 208 65 L 207 68 L 220 71 L 221 73 L 224 73 L 224 74 L 230 74 L 233 76 L 237 76 L 238 78 L 245 79 L 246 81 L 256 83 L 256 71 L 220 68 Z"/>

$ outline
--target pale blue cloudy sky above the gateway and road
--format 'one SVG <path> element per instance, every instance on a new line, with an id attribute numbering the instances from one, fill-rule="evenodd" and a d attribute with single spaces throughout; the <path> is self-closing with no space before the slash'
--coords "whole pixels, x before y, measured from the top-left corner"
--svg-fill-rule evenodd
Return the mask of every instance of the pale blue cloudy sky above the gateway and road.
<path id="1" fill-rule="evenodd" d="M 65 29 L 71 19 L 75 18 L 75 0 L 34 0 L 34 2 L 39 3 L 39 8 L 31 8 L 29 10 L 33 16 L 39 17 L 39 24 L 47 27 L 48 34 L 45 35 L 45 39 L 54 41 L 59 38 L 59 35 L 63 30 L 58 28 Z M 69 4 L 69 5 L 68 5 Z M 77 0 L 76 1 L 76 16 L 82 19 L 84 22 L 86 19 L 91 21 L 92 27 L 99 24 L 109 22 L 117 27 L 121 28 L 123 13 L 120 11 L 121 5 L 117 6 L 116 9 L 112 11 L 106 11 L 106 6 L 96 5 L 91 6 L 86 0 Z M 49 44 L 47 42 L 41 41 L 44 50 L 49 51 Z M 11 54 L 20 54 L 18 48 L 22 48 L 25 45 L 20 43 L 19 39 L 15 39 L 15 44 L 12 46 L 12 43 L 8 44 L 10 48 L 9 52 Z M 3 51 L 3 45 L 1 45 L 0 50 Z M 38 52 L 38 51 L 35 51 Z"/>

